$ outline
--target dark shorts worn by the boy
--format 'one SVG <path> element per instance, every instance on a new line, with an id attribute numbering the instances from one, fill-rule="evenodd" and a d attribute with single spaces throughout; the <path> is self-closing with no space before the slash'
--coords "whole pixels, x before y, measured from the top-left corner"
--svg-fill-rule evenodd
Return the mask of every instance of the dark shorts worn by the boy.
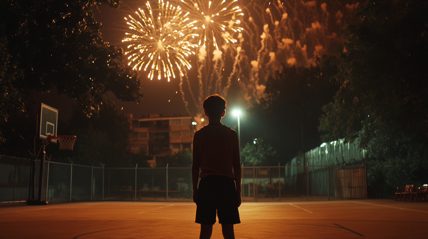
<path id="1" fill-rule="evenodd" d="M 201 178 L 196 204 L 196 223 L 212 225 L 241 223 L 236 201 L 235 181 L 223 175 L 209 175 Z"/>

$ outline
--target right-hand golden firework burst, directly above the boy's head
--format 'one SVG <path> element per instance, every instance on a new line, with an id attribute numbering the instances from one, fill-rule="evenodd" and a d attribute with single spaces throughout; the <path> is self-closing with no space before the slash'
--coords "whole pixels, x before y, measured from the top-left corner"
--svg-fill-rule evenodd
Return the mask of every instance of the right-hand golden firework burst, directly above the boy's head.
<path id="1" fill-rule="evenodd" d="M 238 0 L 181 0 L 186 11 L 189 11 L 189 19 L 194 29 L 199 33 L 199 46 L 206 47 L 207 41 L 218 50 L 216 39 L 224 39 L 227 43 L 235 43 L 237 40 L 230 35 L 229 30 L 241 32 L 243 28 L 237 26 L 241 23 L 236 19 L 241 13 Z"/>

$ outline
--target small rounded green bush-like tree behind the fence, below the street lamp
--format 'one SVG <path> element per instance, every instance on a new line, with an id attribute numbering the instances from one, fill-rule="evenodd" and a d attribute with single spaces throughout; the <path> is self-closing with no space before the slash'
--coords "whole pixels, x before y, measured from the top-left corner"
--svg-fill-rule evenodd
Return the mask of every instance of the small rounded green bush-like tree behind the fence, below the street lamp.
<path id="1" fill-rule="evenodd" d="M 262 138 L 247 143 L 241 151 L 241 163 L 244 166 L 274 166 L 278 164 L 278 155 L 270 144 L 263 142 Z"/>

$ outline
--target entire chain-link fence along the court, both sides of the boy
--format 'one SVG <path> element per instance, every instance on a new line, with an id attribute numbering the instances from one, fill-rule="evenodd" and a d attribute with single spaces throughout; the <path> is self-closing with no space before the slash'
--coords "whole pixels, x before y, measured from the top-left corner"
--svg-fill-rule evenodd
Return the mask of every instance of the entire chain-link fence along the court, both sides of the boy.
<path id="1" fill-rule="evenodd" d="M 0 202 L 30 195 L 30 159 L 1 156 Z M 39 172 L 39 162 L 36 162 Z M 191 168 L 103 168 L 45 162 L 42 199 L 48 202 L 191 201 Z M 37 188 L 39 175 L 36 173 Z M 365 166 L 243 167 L 243 201 L 366 198 Z"/>

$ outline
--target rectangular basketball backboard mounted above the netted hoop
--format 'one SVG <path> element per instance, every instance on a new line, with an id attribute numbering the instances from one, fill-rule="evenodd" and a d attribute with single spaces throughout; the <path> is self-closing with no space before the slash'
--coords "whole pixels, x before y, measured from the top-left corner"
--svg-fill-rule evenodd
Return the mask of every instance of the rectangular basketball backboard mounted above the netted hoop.
<path id="1" fill-rule="evenodd" d="M 40 112 L 40 138 L 47 140 L 49 135 L 56 135 L 58 110 L 42 103 Z M 51 142 L 56 143 L 56 139 Z"/>

